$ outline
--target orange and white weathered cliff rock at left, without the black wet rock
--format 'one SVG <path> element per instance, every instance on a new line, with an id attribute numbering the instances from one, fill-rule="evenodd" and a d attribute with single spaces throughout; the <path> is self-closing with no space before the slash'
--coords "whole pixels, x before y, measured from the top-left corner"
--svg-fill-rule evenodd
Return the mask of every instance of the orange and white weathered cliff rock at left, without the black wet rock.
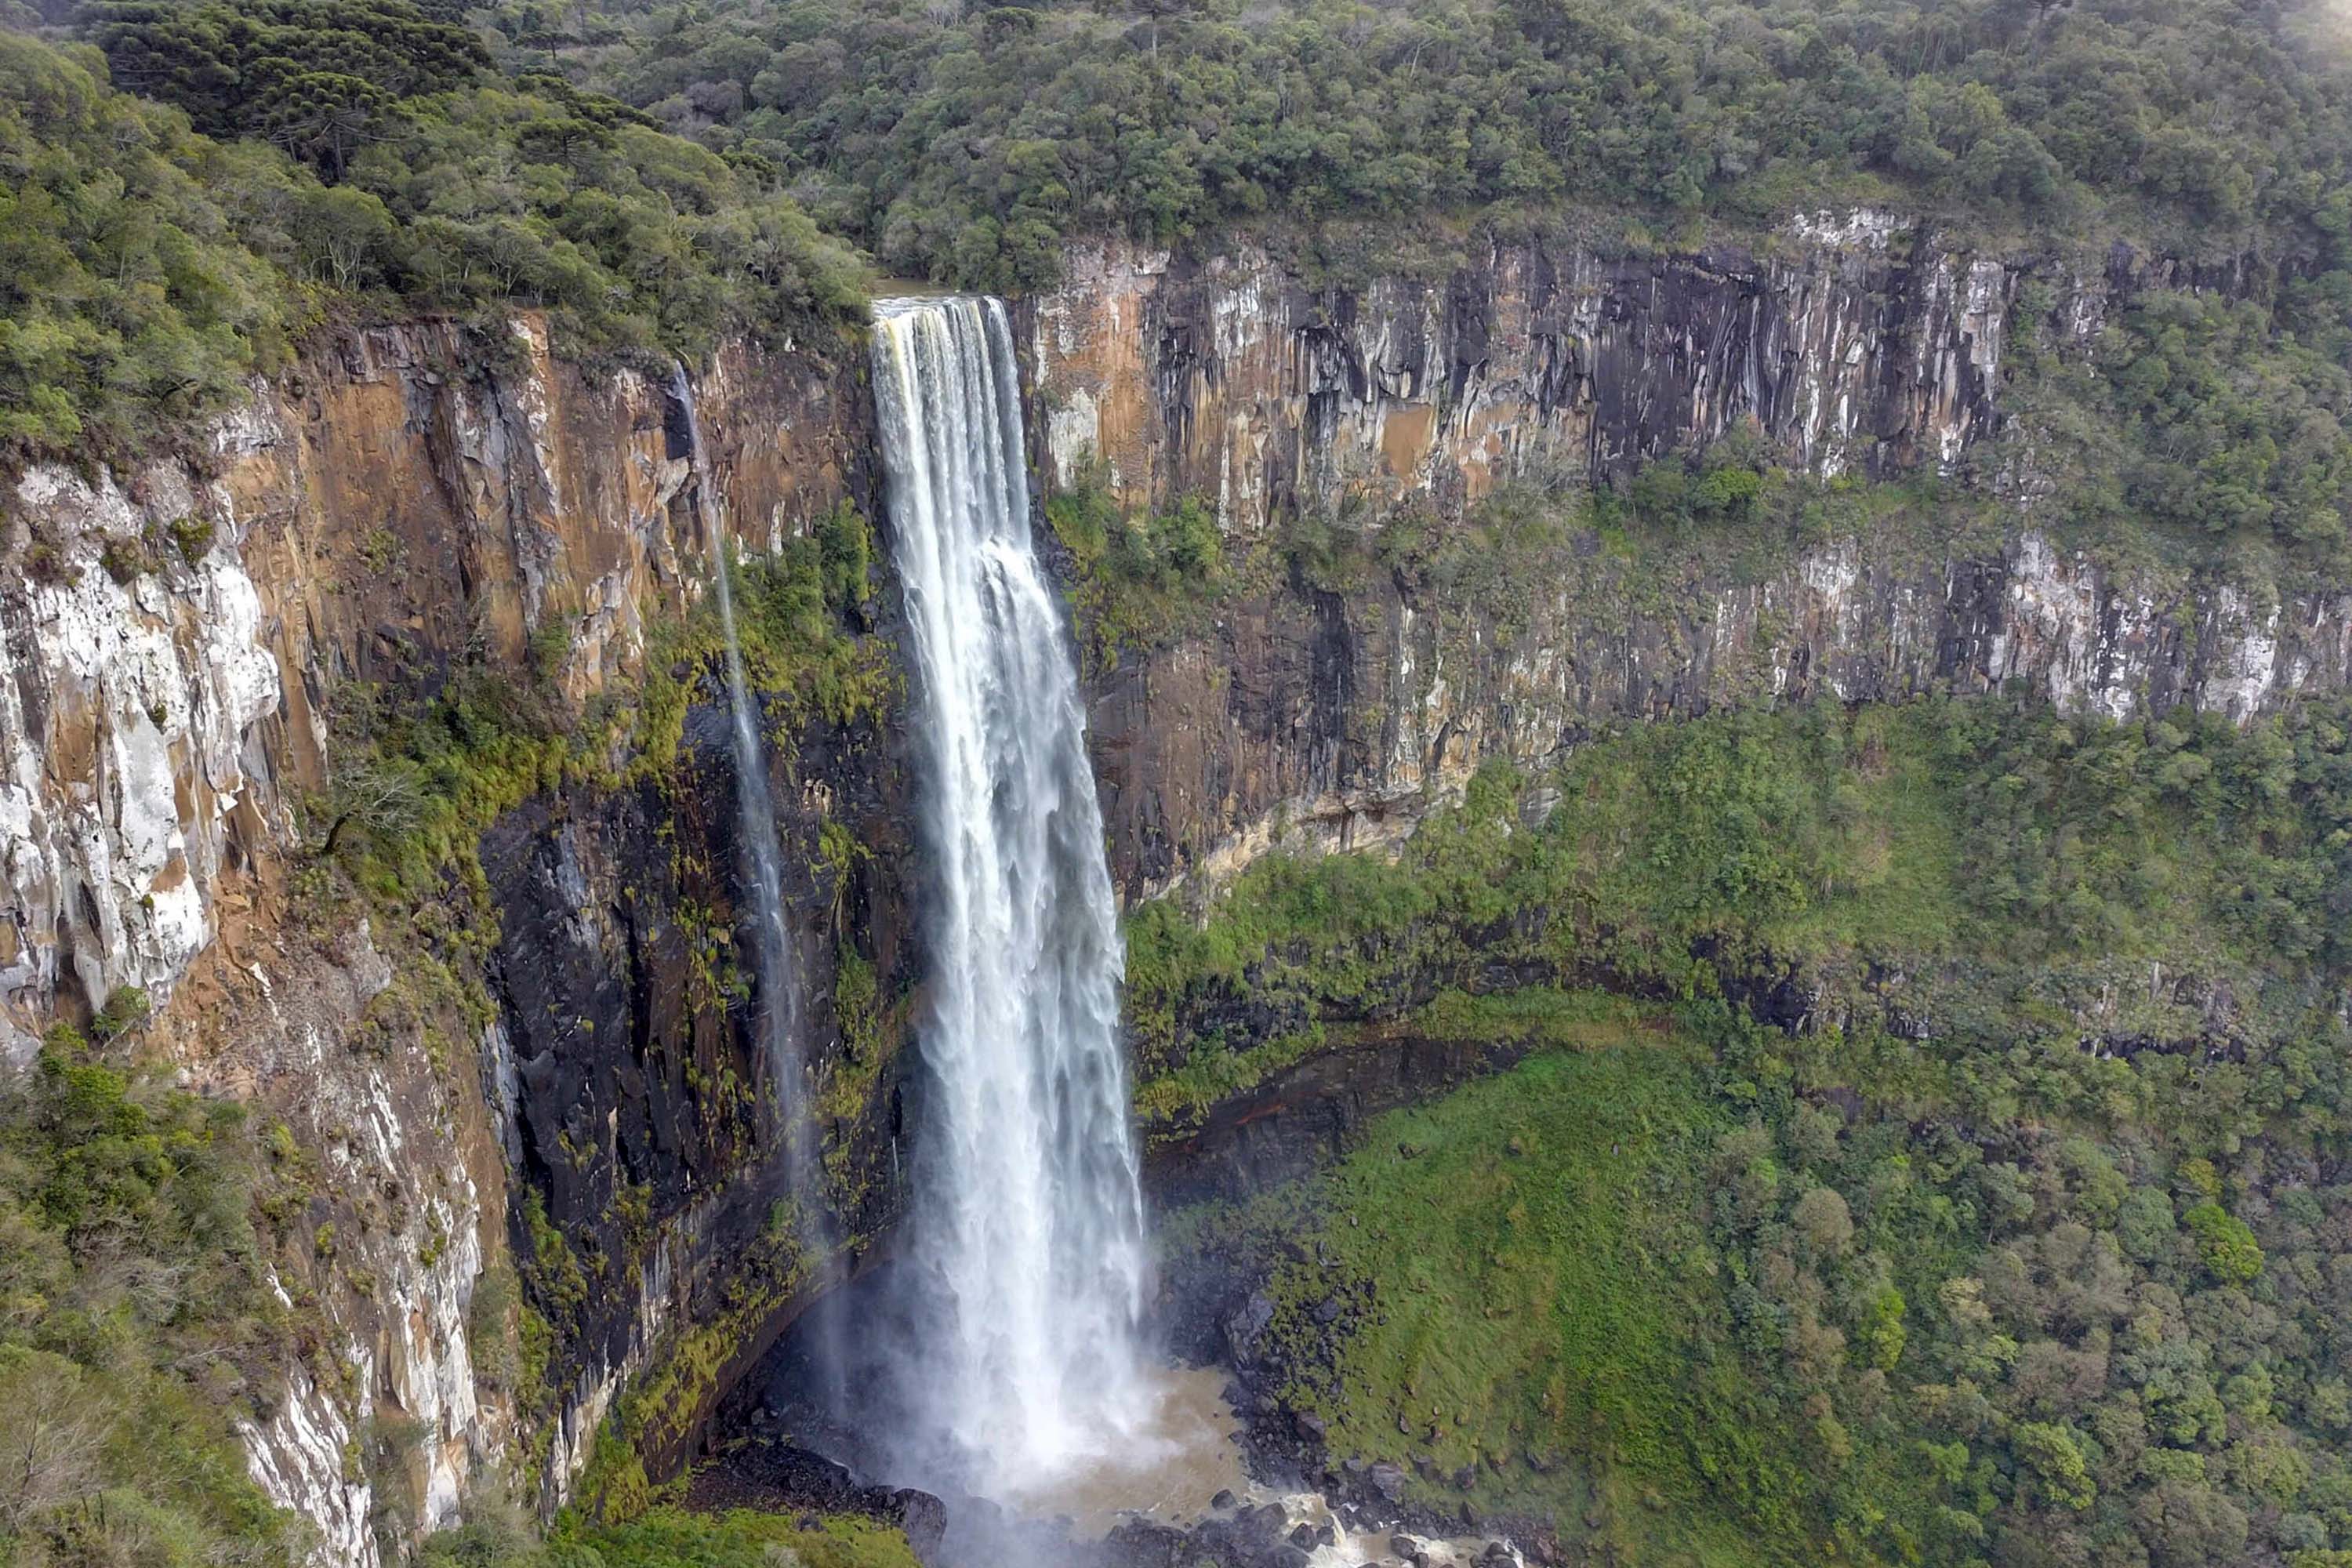
<path id="1" fill-rule="evenodd" d="M 350 682 L 433 691 L 459 658 L 520 672 L 534 637 L 560 637 L 567 698 L 628 686 L 649 623 L 701 592 L 701 517 L 771 548 L 866 496 L 854 374 L 734 346 L 696 383 L 708 512 L 680 503 L 666 388 L 553 360 L 534 317 L 339 336 L 256 386 L 191 461 L 33 468 L 7 494 L 0 1051 L 21 1060 L 59 1011 L 143 987 L 148 1046 L 315 1161 L 280 1286 L 315 1305 L 318 1342 L 245 1432 L 263 1490 L 310 1516 L 336 1563 L 372 1568 L 386 1519 L 409 1521 L 393 1537 L 452 1523 L 485 1476 L 560 1495 L 630 1347 L 720 1293 L 741 1241 L 743 1222 L 691 1201 L 647 1215 L 654 1265 L 600 1302 L 609 1333 L 581 1342 L 583 1363 L 555 1368 L 576 1387 L 569 1436 L 522 1474 L 515 1389 L 485 1380 L 473 1342 L 475 1291 L 508 1253 L 515 1173 L 548 1180 L 527 1159 L 534 1114 L 576 1107 L 520 1093 L 536 1032 L 517 1060 L 506 1020 L 482 1027 L 423 985 L 416 933 L 372 933 L 287 882 Z M 696 1180 L 717 1190 L 731 1166 Z M 414 1425 L 416 1446 L 355 1469 L 386 1422 Z"/>

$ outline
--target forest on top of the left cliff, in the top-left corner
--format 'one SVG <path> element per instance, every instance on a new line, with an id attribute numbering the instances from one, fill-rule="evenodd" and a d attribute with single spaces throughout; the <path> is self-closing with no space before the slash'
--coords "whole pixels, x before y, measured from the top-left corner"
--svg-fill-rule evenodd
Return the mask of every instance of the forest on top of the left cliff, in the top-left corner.
<path id="1" fill-rule="evenodd" d="M 181 433 L 332 315 L 520 301 L 569 353 L 666 360 L 863 313 L 863 263 L 760 160 L 499 78 L 407 0 L 122 5 L 89 35 L 0 31 L 5 458 Z"/>

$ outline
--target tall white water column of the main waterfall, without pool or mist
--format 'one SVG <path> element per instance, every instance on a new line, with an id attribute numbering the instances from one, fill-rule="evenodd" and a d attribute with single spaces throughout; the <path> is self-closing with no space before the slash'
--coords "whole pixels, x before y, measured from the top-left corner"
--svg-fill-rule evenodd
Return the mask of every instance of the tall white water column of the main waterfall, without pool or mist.
<path id="1" fill-rule="evenodd" d="M 880 301 L 873 364 L 931 860 L 913 1260 L 941 1321 L 922 1378 L 969 1481 L 1018 1497 L 1136 1418 L 1124 954 L 1073 646 L 1030 550 L 1004 306 Z"/>

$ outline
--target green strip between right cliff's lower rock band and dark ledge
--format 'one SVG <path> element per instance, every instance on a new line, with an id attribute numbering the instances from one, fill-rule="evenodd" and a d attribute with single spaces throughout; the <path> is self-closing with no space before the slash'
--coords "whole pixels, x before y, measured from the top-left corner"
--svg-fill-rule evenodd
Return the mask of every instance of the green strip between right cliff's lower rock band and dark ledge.
<path id="1" fill-rule="evenodd" d="M 1893 1006 L 1999 1037 L 2096 1016 L 2117 1039 L 2197 1039 L 2197 997 L 2225 985 L 2227 1027 L 2279 1039 L 2352 957 L 2347 844 L 2336 701 L 2244 731 L 2006 698 L 1630 726 L 1550 778 L 1489 764 L 1395 858 L 1277 853 L 1134 910 L 1136 1103 L 1181 1131 L 1494 973 L 1663 997 L 1790 978 L 1816 1023 Z"/>

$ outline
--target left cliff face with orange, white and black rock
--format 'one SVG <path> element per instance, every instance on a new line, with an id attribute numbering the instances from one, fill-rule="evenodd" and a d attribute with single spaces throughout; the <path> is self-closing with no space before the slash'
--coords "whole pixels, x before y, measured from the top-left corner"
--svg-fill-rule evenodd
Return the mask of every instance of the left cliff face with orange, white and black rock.
<path id="1" fill-rule="evenodd" d="M 739 346 L 696 383 L 717 512 L 750 548 L 868 496 L 854 374 Z M 341 1563 L 374 1563 L 379 1533 L 447 1523 L 487 1474 L 562 1495 L 623 1368 L 677 1321 L 717 1316 L 724 1262 L 757 1229 L 746 1215 L 764 1225 L 788 1187 L 748 1103 L 699 1100 L 703 1072 L 767 1081 L 748 1025 L 680 999 L 680 900 L 734 910 L 731 766 L 706 710 L 689 710 L 677 799 L 572 790 L 501 825 L 485 853 L 499 929 L 470 980 L 452 931 L 379 929 L 303 870 L 322 816 L 296 804 L 327 790 L 353 691 L 414 698 L 461 663 L 522 670 L 532 646 L 562 654 L 548 677 L 572 701 L 635 679 L 647 625 L 708 574 L 689 468 L 666 386 L 560 364 L 517 320 L 489 339 L 341 336 L 191 461 L 38 468 L 9 496 L 26 569 L 0 592 L 5 1046 L 24 1060 L 54 1011 L 141 987 L 153 1051 L 315 1154 L 308 1213 L 273 1258 L 306 1354 L 249 1441 L 266 1490 Z M 858 752 L 840 771 L 868 783 L 833 785 L 854 809 L 903 816 L 880 804 L 896 788 L 882 738 L 823 743 Z M 833 795 L 779 778 L 776 797 L 814 839 Z M 673 813 L 710 844 L 684 877 L 654 846 Z M 861 912 L 840 940 L 873 945 L 863 910 L 891 903 L 802 877 L 821 997 L 835 907 Z M 828 1030 L 837 1041 L 830 1006 L 807 1034 Z M 557 1164 L 567 1140 L 602 1175 Z M 868 1168 L 847 1159 L 842 1180 Z M 522 1441 L 529 1389 L 485 1366 L 515 1307 L 477 1309 L 520 1234 L 517 1173 L 557 1227 L 609 1244 L 560 1324 L 546 1455 Z M 386 1420 L 423 1439 L 353 1467 Z"/>

